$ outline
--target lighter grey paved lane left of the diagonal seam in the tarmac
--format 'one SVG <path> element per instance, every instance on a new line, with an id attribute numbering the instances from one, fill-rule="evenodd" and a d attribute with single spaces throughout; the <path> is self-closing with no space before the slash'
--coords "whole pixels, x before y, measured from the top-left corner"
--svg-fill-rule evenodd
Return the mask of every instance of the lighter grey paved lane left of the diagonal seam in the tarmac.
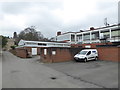
<path id="1" fill-rule="evenodd" d="M 79 88 L 69 82 L 70 77 L 54 69 L 34 62 L 37 58 L 20 59 L 3 52 L 3 88 Z M 57 79 L 51 79 L 56 77 Z"/>

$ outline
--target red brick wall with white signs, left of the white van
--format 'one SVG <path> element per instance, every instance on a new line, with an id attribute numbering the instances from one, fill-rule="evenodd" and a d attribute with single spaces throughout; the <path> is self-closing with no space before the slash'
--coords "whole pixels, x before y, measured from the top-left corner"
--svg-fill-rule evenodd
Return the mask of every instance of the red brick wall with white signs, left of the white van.
<path id="1" fill-rule="evenodd" d="M 46 49 L 46 55 L 45 55 Z M 60 48 L 49 47 L 41 48 L 41 60 L 43 62 L 65 62 L 74 59 L 74 55 L 81 51 L 82 48 Z"/>

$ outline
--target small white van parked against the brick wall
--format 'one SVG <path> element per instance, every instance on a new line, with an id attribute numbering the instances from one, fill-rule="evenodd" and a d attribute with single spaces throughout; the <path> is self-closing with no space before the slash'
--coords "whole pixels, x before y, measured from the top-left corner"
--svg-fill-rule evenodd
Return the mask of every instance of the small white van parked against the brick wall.
<path id="1" fill-rule="evenodd" d="M 74 56 L 76 61 L 97 60 L 98 52 L 96 49 L 84 49 Z"/>

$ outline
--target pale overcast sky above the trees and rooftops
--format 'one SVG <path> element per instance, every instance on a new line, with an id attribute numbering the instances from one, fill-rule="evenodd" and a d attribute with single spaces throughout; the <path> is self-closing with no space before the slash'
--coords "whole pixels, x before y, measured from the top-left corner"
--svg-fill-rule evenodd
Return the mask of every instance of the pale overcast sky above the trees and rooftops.
<path id="1" fill-rule="evenodd" d="M 0 2 L 0 35 L 13 36 L 29 26 L 36 26 L 45 37 L 57 31 L 87 30 L 118 23 L 119 0 L 12 0 Z M 25 2 L 26 1 L 26 2 Z"/>

